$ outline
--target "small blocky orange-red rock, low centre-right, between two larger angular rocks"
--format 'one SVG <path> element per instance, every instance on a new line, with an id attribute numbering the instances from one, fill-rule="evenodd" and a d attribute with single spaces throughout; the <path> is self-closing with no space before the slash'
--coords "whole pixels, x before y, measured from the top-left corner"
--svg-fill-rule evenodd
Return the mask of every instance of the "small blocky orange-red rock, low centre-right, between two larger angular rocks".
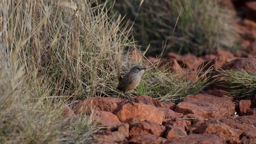
<path id="1" fill-rule="evenodd" d="M 165 137 L 167 139 L 171 137 L 185 137 L 187 136 L 187 132 L 182 129 L 181 126 L 166 126 Z"/>

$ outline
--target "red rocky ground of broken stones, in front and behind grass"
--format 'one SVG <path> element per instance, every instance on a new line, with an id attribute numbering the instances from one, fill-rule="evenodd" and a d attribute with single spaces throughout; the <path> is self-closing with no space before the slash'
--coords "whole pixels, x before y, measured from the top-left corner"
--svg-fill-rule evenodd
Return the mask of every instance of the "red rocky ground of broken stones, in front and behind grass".
<path id="1" fill-rule="evenodd" d="M 234 9 L 232 3 L 226 5 Z M 244 38 L 240 48 L 242 53 L 220 49 L 202 57 L 168 53 L 167 58 L 160 61 L 160 68 L 174 73 L 184 72 L 189 79 L 204 66 L 203 71 L 230 68 L 256 73 L 256 2 L 244 5 L 246 18 L 234 24 Z M 138 51 L 133 51 L 132 55 L 141 57 Z M 154 57 L 148 57 L 148 60 L 157 61 Z M 75 118 L 85 107 L 95 107 L 93 117 L 99 121 L 98 125 L 105 126 L 94 134 L 98 143 L 256 143 L 256 97 L 234 103 L 225 88 L 211 85 L 209 90 L 188 96 L 178 104 L 161 103 L 145 95 L 133 97 L 133 100 L 135 106 L 120 98 L 90 97 L 78 102 L 76 109 L 65 107 L 63 116 Z M 235 111 L 237 115 L 234 115 Z"/>

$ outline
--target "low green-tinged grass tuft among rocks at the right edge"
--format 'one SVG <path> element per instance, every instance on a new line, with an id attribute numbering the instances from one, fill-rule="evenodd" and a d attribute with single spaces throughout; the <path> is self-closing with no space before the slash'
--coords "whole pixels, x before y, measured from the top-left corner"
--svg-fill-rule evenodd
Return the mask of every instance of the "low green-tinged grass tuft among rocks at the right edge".
<path id="1" fill-rule="evenodd" d="M 246 70 L 222 70 L 218 76 L 219 86 L 230 91 L 235 98 L 250 98 L 256 95 L 256 74 Z"/>

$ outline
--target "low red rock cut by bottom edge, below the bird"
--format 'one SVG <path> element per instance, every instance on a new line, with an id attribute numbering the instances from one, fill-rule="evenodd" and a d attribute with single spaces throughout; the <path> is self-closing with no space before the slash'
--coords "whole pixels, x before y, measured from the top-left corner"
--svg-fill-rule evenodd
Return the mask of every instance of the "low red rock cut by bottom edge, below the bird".
<path id="1" fill-rule="evenodd" d="M 136 144 L 163 144 L 165 139 L 154 134 L 138 134 L 137 137 L 132 138 L 129 143 Z"/>

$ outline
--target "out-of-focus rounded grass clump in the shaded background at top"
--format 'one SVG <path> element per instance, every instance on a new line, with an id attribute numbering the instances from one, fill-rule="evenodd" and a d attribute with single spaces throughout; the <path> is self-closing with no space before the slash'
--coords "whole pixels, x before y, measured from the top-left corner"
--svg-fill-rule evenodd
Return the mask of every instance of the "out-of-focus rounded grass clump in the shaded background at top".
<path id="1" fill-rule="evenodd" d="M 116 1 L 114 10 L 133 20 L 139 4 L 140 0 Z M 144 48 L 151 44 L 148 54 L 160 54 L 165 40 L 165 48 L 179 54 L 190 52 L 198 56 L 214 53 L 216 48 L 235 51 L 238 32 L 231 25 L 235 23 L 234 15 L 216 0 L 145 0 L 133 35 Z"/>

